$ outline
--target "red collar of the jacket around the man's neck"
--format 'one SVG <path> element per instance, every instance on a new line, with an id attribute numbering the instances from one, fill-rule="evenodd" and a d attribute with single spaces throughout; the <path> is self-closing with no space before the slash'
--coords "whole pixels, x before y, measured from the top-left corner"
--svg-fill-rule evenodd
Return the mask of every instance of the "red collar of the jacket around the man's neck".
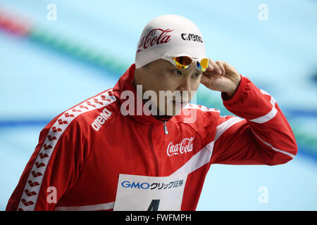
<path id="1" fill-rule="evenodd" d="M 113 87 L 113 94 L 116 96 L 116 99 L 120 105 L 120 113 L 121 110 L 124 110 L 126 108 L 122 107 L 121 105 L 128 101 L 128 98 L 121 98 L 121 94 L 123 91 L 132 91 L 133 95 L 135 96 L 135 112 L 133 115 L 128 114 L 129 117 L 131 117 L 133 120 L 137 120 L 138 122 L 145 122 L 150 124 L 156 124 L 161 123 L 164 120 L 168 121 L 173 116 L 156 116 L 154 115 L 145 115 L 143 112 L 143 105 L 144 102 L 142 101 L 142 96 L 137 95 L 137 91 L 135 90 L 135 87 L 132 84 L 133 77 L 135 76 L 135 63 L 133 63 L 130 68 L 120 77 L 116 85 Z M 137 99 L 138 98 L 138 99 Z M 141 109 L 141 103 L 142 103 L 142 109 Z M 139 107 L 139 112 L 137 112 L 137 108 Z M 137 114 L 138 113 L 138 114 Z M 148 113 L 147 113 L 148 114 Z"/>

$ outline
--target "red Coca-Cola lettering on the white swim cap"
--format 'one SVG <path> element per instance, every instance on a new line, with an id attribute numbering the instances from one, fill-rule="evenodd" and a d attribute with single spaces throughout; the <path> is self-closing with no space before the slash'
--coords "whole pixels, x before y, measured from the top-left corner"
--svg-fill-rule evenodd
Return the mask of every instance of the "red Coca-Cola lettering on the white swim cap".
<path id="1" fill-rule="evenodd" d="M 153 29 L 147 35 L 144 35 L 139 41 L 139 46 L 137 47 L 137 53 L 140 51 L 149 48 L 149 46 L 154 46 L 154 44 L 164 44 L 170 41 L 169 33 L 173 30 L 170 29 Z"/>

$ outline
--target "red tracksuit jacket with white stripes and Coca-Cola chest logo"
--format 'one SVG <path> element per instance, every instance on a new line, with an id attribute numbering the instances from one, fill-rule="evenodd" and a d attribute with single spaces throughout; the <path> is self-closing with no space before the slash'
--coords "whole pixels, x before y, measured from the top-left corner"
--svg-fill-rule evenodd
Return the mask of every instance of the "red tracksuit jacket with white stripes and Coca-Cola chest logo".
<path id="1" fill-rule="evenodd" d="M 189 103 L 164 127 L 152 115 L 120 113 L 121 92 L 135 93 L 134 72 L 132 64 L 113 89 L 66 110 L 41 131 L 6 210 L 113 210 L 118 174 L 178 173 L 188 174 L 181 210 L 195 210 L 212 164 L 279 165 L 296 155 L 278 104 L 247 77 L 230 100 L 222 95 L 238 117 Z M 191 112 L 197 119 L 184 122 Z"/>

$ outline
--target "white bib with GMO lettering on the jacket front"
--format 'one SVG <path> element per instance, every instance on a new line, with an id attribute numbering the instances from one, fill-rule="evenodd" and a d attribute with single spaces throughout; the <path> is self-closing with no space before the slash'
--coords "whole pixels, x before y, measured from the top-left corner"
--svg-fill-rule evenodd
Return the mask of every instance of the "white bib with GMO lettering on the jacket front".
<path id="1" fill-rule="evenodd" d="M 119 174 L 114 211 L 180 211 L 187 174 Z"/>

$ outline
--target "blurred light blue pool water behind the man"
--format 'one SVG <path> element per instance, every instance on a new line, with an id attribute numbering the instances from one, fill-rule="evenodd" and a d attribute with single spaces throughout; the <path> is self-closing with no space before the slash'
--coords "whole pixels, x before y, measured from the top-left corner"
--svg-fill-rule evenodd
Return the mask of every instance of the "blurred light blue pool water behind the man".
<path id="1" fill-rule="evenodd" d="M 46 19 L 51 3 L 57 6 L 55 21 Z M 260 4 L 268 6 L 268 20 L 259 20 Z M 209 58 L 227 61 L 268 91 L 299 145 L 298 155 L 285 165 L 212 165 L 197 210 L 317 210 L 317 1 L 1 0 L 0 9 L 70 45 L 104 53 L 124 68 L 94 66 L 0 29 L 0 210 L 39 131 L 59 113 L 116 84 L 134 63 L 144 25 L 163 14 L 192 20 Z M 203 85 L 197 100 L 229 113 L 220 94 Z M 259 202 L 262 186 L 268 203 Z"/>

